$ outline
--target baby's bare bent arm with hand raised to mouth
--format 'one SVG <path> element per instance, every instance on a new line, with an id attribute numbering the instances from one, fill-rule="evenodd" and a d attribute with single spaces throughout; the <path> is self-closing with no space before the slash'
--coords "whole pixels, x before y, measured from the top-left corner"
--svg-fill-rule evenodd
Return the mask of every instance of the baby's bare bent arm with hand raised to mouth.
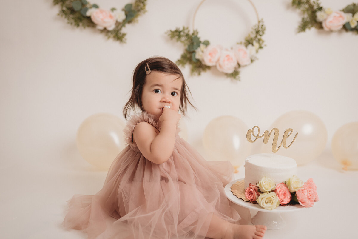
<path id="1" fill-rule="evenodd" d="M 173 109 L 164 108 L 159 120 L 160 132 L 147 122 L 140 122 L 133 131 L 133 139 L 140 152 L 151 162 L 162 164 L 174 149 L 176 124 L 181 115 Z"/>

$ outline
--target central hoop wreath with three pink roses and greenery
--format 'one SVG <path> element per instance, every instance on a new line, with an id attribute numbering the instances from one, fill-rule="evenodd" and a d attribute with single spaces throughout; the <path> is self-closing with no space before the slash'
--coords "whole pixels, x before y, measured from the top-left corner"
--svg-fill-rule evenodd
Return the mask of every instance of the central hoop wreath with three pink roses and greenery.
<path id="1" fill-rule="evenodd" d="M 181 42 L 185 46 L 184 53 L 176 63 L 183 67 L 186 64 L 191 65 L 190 73 L 192 75 L 200 75 L 201 72 L 216 66 L 227 77 L 240 80 L 240 69 L 254 62 L 257 59 L 256 53 L 264 46 L 261 37 L 265 33 L 266 27 L 263 25 L 263 20 L 259 19 L 255 5 L 248 0 L 255 9 L 257 24 L 252 27 L 251 33 L 246 36 L 245 41 L 239 42 L 231 48 L 211 45 L 208 40 L 201 41 L 198 30 L 194 30 L 195 15 L 204 1 L 202 0 L 195 10 L 192 33 L 185 26 L 182 29 L 176 28 L 166 32 L 170 39 L 175 39 L 176 42 Z"/>

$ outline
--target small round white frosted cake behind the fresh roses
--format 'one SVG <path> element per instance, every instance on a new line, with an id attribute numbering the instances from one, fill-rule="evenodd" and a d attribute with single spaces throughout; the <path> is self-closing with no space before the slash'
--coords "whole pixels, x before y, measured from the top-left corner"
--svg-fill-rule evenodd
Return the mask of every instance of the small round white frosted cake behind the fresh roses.
<path id="1" fill-rule="evenodd" d="M 276 185 L 297 175 L 297 164 L 293 158 L 272 153 L 258 153 L 245 160 L 244 189 L 251 183 L 256 185 L 263 177 L 269 177 Z"/>

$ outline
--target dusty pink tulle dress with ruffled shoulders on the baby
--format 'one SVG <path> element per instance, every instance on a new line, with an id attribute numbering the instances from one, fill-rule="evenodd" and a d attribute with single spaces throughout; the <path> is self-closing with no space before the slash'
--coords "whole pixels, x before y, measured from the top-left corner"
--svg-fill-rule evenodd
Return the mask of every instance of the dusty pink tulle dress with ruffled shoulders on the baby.
<path id="1" fill-rule="evenodd" d="M 63 225 L 84 230 L 88 238 L 205 238 L 213 215 L 240 219 L 225 196 L 233 180 L 228 161 L 208 162 L 177 130 L 173 153 L 163 164 L 147 160 L 132 142 L 137 123 L 160 131 L 160 121 L 143 112 L 125 129 L 126 148 L 115 158 L 96 195 L 74 195 Z"/>

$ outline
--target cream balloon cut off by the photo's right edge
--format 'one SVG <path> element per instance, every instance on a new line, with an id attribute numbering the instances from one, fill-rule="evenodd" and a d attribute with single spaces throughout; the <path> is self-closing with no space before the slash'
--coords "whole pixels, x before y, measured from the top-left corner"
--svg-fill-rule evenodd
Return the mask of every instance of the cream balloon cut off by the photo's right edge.
<path id="1" fill-rule="evenodd" d="M 343 165 L 343 169 L 358 169 L 358 122 L 340 127 L 332 137 L 333 157 Z"/>

